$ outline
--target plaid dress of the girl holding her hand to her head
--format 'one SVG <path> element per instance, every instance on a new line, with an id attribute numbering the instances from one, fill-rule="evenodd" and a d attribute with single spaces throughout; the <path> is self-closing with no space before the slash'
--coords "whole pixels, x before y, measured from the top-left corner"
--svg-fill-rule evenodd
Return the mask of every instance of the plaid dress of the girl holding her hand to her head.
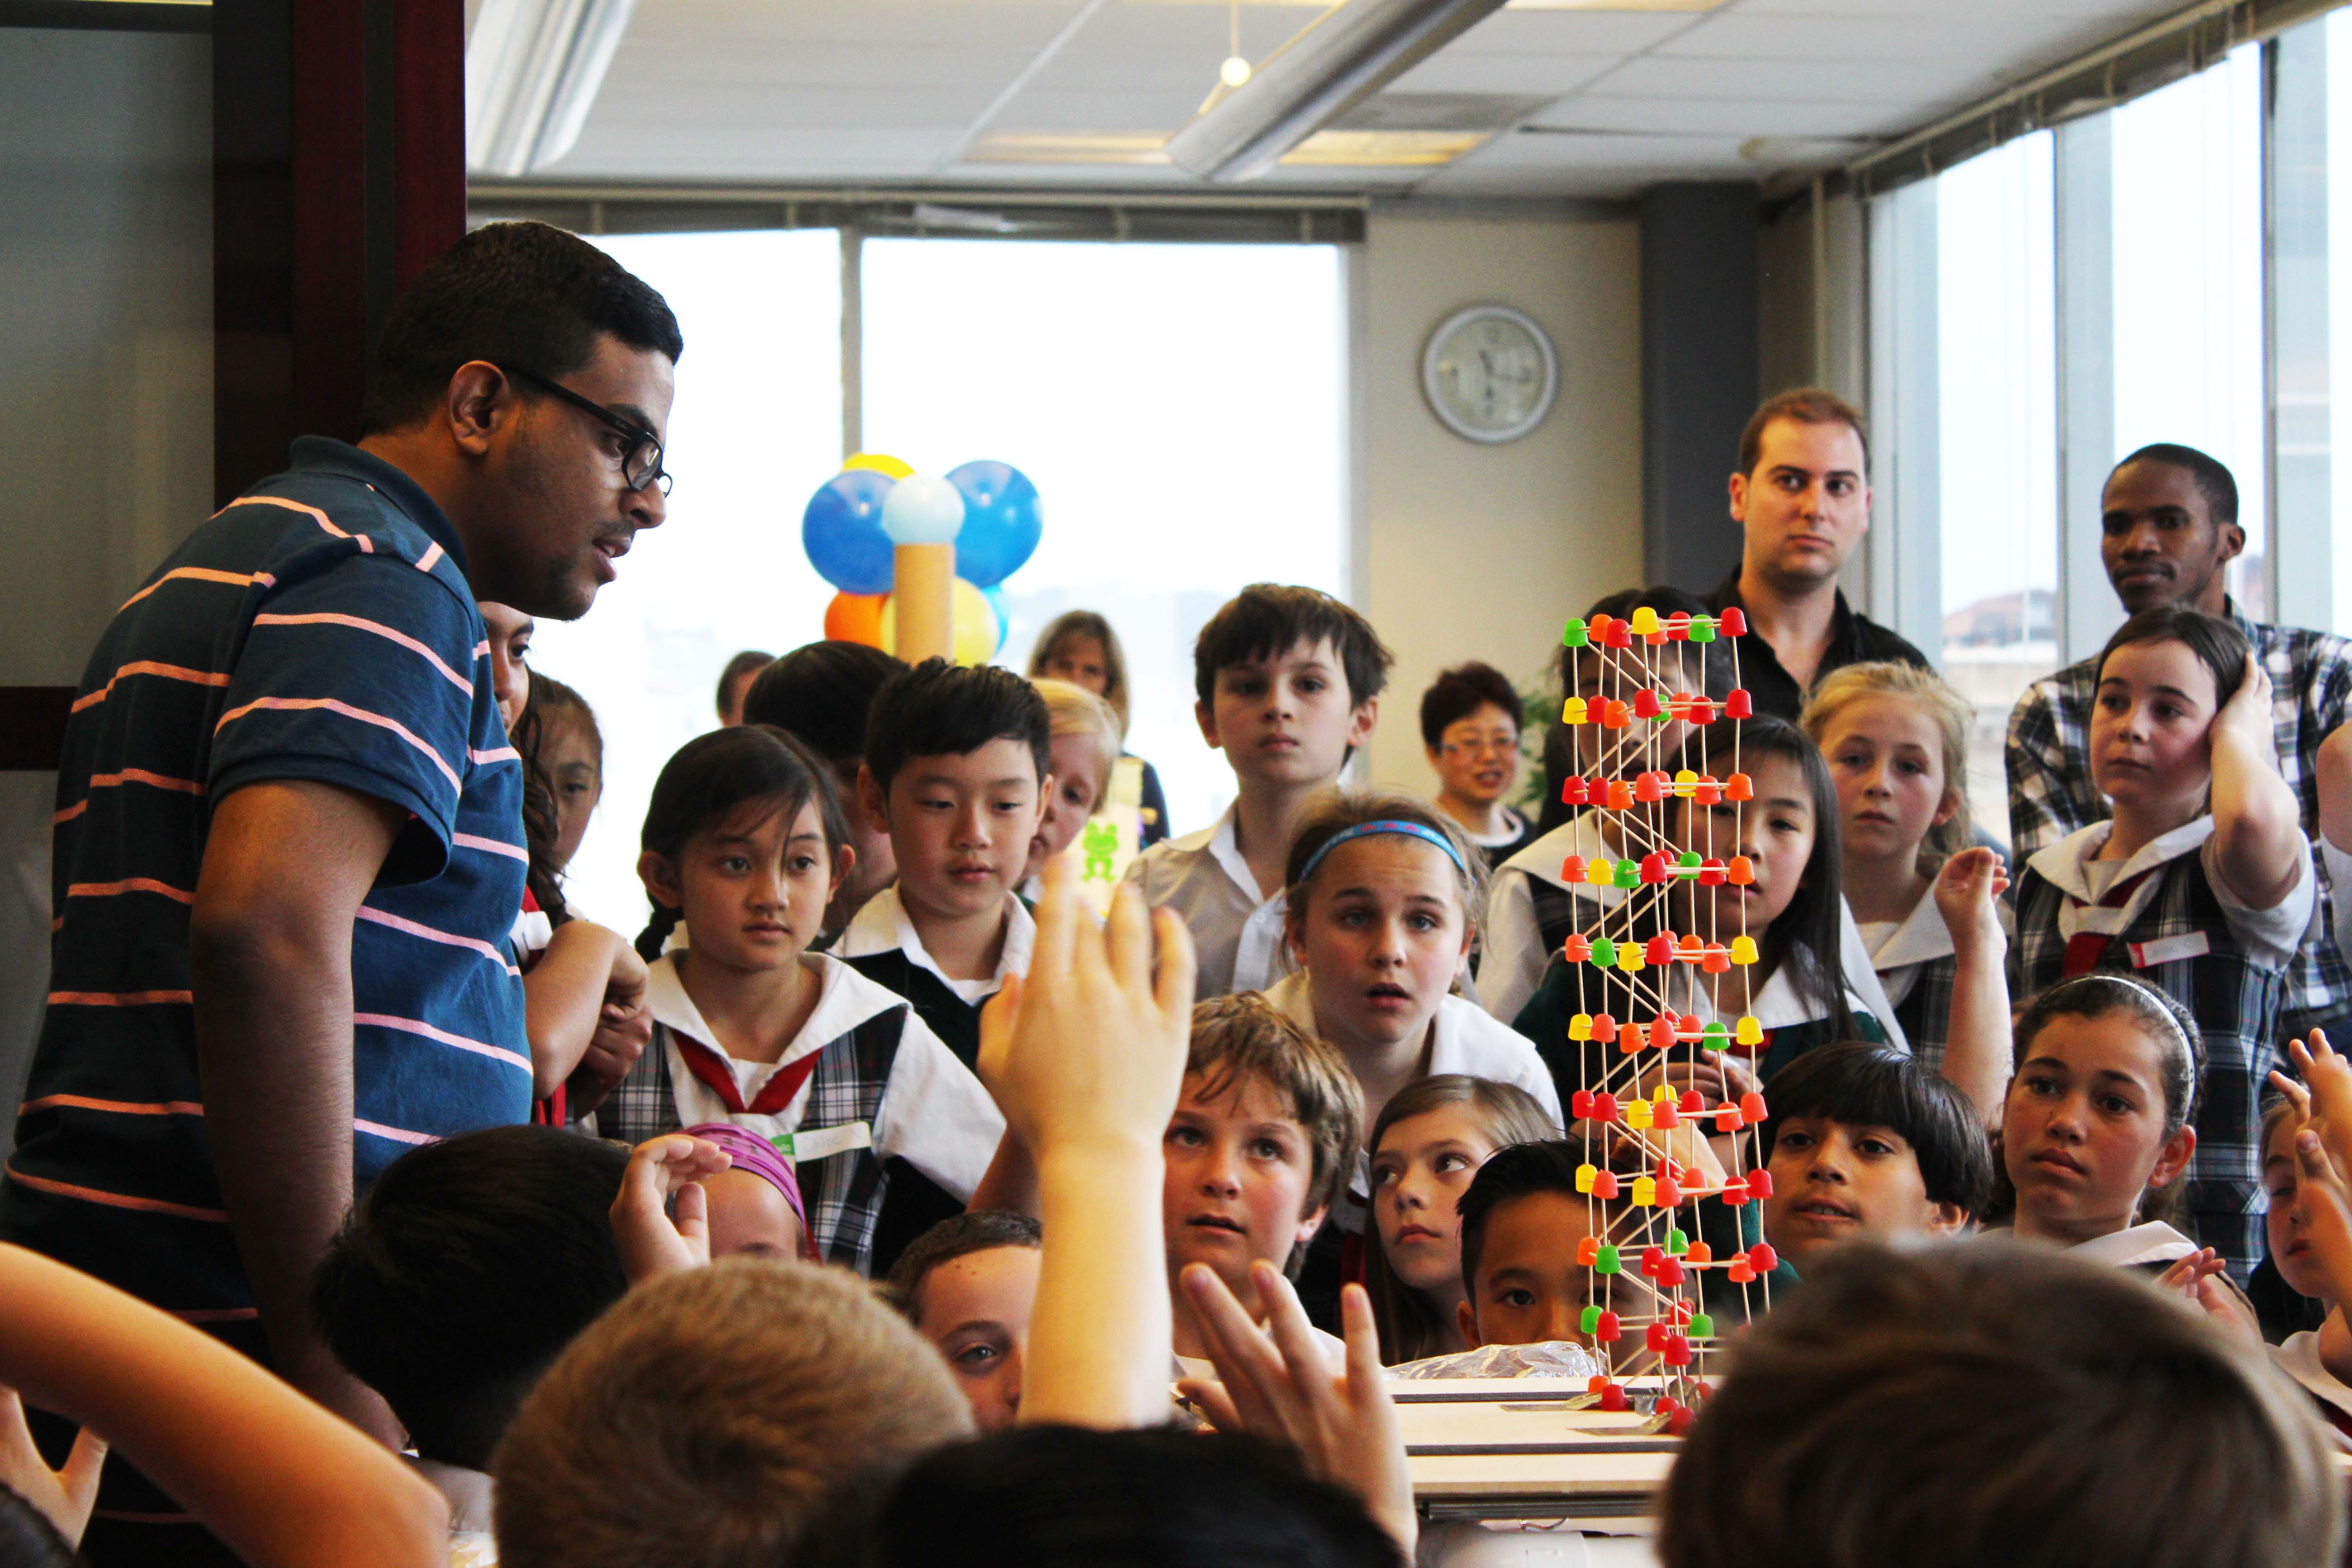
<path id="1" fill-rule="evenodd" d="M 2197 1018 L 2206 1072 L 2197 1086 L 2187 1229 L 2199 1246 L 2218 1248 L 2230 1260 L 2230 1276 L 2244 1286 L 2265 1251 L 2263 1215 L 2270 1213 L 2270 1194 L 2263 1187 L 2260 1103 L 2263 1084 L 2279 1065 L 2279 1011 L 2288 978 L 2256 961 L 2230 931 L 2230 914 L 2197 851 L 2166 860 L 2152 875 L 2154 896 L 2124 931 L 2107 938 L 2096 969 L 2138 973 Z M 2025 865 L 2018 879 L 2018 940 L 2011 947 L 2011 980 L 2020 999 L 2067 973 L 2067 940 L 2058 933 L 2065 900 L 2058 884 L 2032 863 Z M 2136 947 L 2197 933 L 2209 952 L 2133 961 Z"/>

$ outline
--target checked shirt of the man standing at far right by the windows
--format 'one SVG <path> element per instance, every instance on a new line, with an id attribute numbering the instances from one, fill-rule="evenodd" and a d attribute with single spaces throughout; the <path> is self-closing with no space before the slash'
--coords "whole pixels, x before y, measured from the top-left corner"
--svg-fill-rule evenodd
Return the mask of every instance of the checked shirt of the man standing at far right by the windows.
<path id="1" fill-rule="evenodd" d="M 2352 717 L 2352 644 L 2296 625 L 2249 621 L 2237 599 L 2223 614 L 2246 632 L 2270 672 L 2279 776 L 2303 804 L 2305 837 L 2317 839 L 2319 743 Z M 2009 715 L 2009 844 L 2016 863 L 2107 816 L 2089 766 L 2096 691 L 2098 661 L 2086 658 L 2037 679 Z M 2338 1016 L 2352 1011 L 2352 969 L 2336 950 L 2331 907 L 2321 865 L 2321 929 L 2286 971 L 2284 1023 L 2293 1034 L 2336 1030 Z"/>

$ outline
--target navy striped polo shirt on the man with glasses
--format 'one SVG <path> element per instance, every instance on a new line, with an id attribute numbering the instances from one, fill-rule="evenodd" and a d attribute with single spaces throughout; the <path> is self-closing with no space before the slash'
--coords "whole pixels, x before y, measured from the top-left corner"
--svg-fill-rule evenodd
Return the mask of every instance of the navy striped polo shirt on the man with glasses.
<path id="1" fill-rule="evenodd" d="M 82 675 L 56 783 L 49 1004 L 0 1237 L 261 1354 L 205 1143 L 188 912 L 212 802 L 310 778 L 409 813 L 350 933 L 350 1166 L 529 1119 L 506 936 L 522 764 L 449 520 L 343 442 L 205 522 Z"/>

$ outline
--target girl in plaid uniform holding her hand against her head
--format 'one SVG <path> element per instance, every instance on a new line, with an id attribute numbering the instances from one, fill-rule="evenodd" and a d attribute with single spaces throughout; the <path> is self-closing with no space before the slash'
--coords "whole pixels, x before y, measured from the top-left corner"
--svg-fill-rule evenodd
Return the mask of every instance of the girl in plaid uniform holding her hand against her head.
<path id="1" fill-rule="evenodd" d="M 2143 609 L 2098 656 L 2091 780 L 2105 823 L 2018 879 L 2020 992 L 2129 971 L 2204 1034 L 2187 1225 L 2246 1281 L 2263 1258 L 2263 1081 L 2279 1065 L 2286 969 L 2317 914 L 2312 846 L 2279 778 L 2270 677 L 2227 621 Z"/>

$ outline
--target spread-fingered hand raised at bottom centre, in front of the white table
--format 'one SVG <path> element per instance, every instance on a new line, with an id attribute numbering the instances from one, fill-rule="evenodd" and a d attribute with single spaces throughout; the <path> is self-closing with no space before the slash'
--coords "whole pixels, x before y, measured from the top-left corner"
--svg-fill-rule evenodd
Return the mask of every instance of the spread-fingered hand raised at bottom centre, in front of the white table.
<path id="1" fill-rule="evenodd" d="M 1207 1265 L 1183 1272 L 1209 1361 L 1221 1382 L 1185 1380 L 1183 1396 L 1207 1410 L 1218 1432 L 1254 1432 L 1291 1443 L 1308 1474 L 1336 1481 L 1364 1500 L 1411 1561 L 1418 1540 L 1414 1479 L 1404 1462 L 1397 1406 L 1381 1375 L 1381 1338 L 1364 1286 L 1343 1286 L 1348 1371 L 1334 1373 L 1308 1328 L 1298 1293 L 1270 1262 L 1251 1265 L 1258 1300 L 1270 1309 L 1258 1328 Z"/>

